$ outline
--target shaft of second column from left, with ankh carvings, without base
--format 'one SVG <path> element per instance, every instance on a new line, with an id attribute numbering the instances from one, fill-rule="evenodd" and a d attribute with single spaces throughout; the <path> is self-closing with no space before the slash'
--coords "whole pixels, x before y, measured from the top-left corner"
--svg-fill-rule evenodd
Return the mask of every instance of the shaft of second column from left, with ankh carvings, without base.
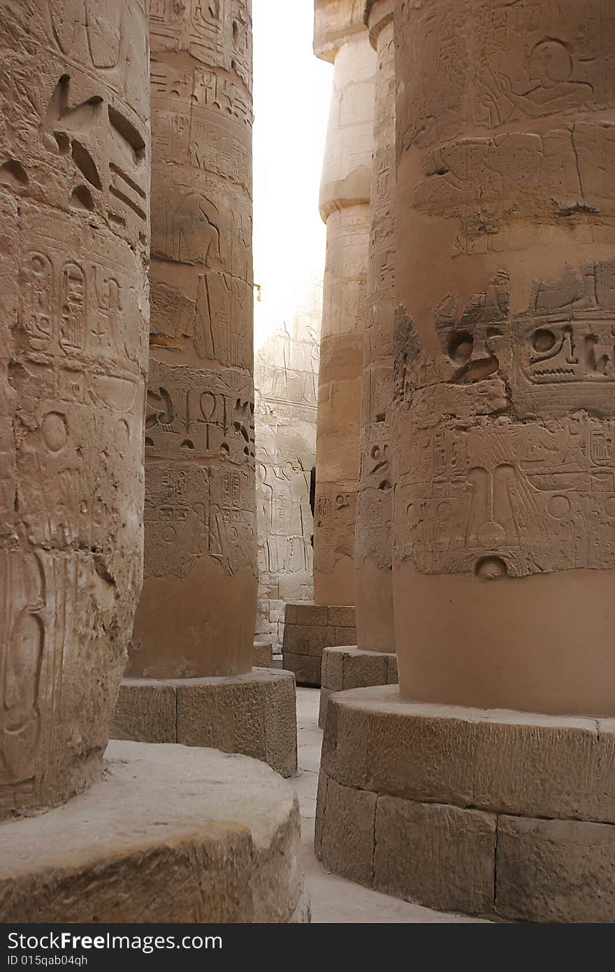
<path id="1" fill-rule="evenodd" d="M 135 677 L 252 667 L 251 7 L 159 0 L 150 12 L 152 321 Z"/>

